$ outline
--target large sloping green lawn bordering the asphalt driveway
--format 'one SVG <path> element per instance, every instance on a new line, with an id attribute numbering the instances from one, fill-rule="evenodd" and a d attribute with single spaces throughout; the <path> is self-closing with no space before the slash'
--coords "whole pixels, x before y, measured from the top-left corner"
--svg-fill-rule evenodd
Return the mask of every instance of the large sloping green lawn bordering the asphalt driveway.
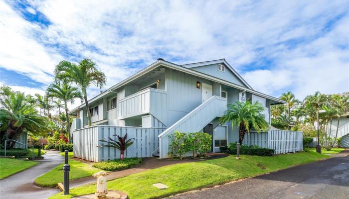
<path id="1" fill-rule="evenodd" d="M 232 180 L 285 169 L 299 164 L 328 158 L 328 155 L 314 152 L 300 152 L 273 157 L 241 155 L 176 164 L 130 175 L 108 182 L 108 190 L 124 191 L 130 199 L 150 199 L 170 196 L 198 188 L 222 184 Z M 152 184 L 163 183 L 168 189 L 159 190 Z M 50 199 L 67 199 L 95 192 L 96 185 L 88 185 L 70 190 L 70 195 L 62 193 Z"/>

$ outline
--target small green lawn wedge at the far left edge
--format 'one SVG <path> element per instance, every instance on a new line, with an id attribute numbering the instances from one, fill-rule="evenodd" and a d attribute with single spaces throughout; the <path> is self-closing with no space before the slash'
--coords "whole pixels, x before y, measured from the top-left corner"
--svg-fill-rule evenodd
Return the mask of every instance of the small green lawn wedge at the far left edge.
<path id="1" fill-rule="evenodd" d="M 0 158 L 0 179 L 30 168 L 38 162 L 27 160 L 16 160 L 10 158 Z"/>

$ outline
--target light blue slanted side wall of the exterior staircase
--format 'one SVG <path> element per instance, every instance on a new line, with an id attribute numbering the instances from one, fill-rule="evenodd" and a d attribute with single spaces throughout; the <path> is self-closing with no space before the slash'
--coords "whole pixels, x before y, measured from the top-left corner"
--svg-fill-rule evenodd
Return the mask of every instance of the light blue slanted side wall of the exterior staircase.
<path id="1" fill-rule="evenodd" d="M 168 152 L 169 144 L 171 143 L 171 134 L 175 130 L 179 132 L 198 132 L 214 118 L 222 116 L 226 109 L 226 98 L 212 96 L 179 119 L 159 135 L 160 158 L 169 157 Z"/>

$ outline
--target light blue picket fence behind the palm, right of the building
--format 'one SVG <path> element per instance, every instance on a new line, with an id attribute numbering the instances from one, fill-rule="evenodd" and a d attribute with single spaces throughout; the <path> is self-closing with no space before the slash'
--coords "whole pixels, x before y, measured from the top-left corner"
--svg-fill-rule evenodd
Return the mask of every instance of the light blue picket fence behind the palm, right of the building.
<path id="1" fill-rule="evenodd" d="M 245 134 L 242 144 L 274 149 L 275 154 L 303 151 L 303 132 L 287 130 L 250 132 Z"/>

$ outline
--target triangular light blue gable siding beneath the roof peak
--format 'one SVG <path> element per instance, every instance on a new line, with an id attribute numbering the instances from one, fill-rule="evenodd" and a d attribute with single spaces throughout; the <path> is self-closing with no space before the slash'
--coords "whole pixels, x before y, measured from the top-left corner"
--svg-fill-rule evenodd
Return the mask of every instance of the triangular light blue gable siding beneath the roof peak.
<path id="1" fill-rule="evenodd" d="M 213 76 L 213 77 L 217 77 L 219 79 L 222 79 L 222 80 L 225 80 L 225 81 L 228 81 L 228 82 L 231 82 L 231 83 L 243 86 L 243 87 L 246 87 L 246 85 L 243 82 L 241 82 L 241 80 L 239 80 L 239 78 L 237 78 L 236 75 L 233 74 L 233 72 L 231 72 L 227 66 L 225 66 L 225 72 L 218 71 L 217 64 L 210 64 L 210 65 L 206 65 L 206 66 L 193 67 L 190 69 L 201 72 L 201 73 L 205 73 L 205 74 Z"/>

